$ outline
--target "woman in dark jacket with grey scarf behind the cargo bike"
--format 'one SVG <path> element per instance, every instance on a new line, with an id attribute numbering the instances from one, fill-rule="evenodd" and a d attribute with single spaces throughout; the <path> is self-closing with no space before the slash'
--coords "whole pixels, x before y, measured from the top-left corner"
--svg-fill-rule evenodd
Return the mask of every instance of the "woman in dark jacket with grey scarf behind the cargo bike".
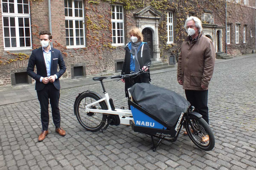
<path id="1" fill-rule="evenodd" d="M 147 45 L 147 42 L 143 42 L 142 33 L 138 28 L 132 28 L 129 31 L 129 35 L 130 42 L 126 44 L 126 47 L 124 48 L 126 50 L 126 55 L 124 58 L 122 74 L 130 74 L 130 71 L 136 73 L 139 69 L 149 71 L 149 66 L 151 65 L 149 45 Z M 140 74 L 134 81 L 135 83 L 149 83 L 150 74 Z M 132 84 L 130 83 L 129 78 L 122 79 L 122 82 L 125 83 L 126 97 L 128 97 L 127 89 L 131 87 Z"/>

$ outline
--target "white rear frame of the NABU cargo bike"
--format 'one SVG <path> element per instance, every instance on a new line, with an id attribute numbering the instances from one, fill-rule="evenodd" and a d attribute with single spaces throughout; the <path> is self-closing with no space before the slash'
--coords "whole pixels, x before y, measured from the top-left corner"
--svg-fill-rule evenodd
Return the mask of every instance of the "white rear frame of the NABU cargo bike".
<path id="1" fill-rule="evenodd" d="M 124 110 L 124 109 L 117 109 L 117 108 L 115 110 L 111 110 L 111 105 L 109 103 L 109 94 L 107 92 L 105 92 L 104 95 L 105 95 L 104 98 L 97 100 L 96 102 L 93 102 L 91 104 L 86 105 L 85 112 L 86 113 L 95 112 L 95 113 L 102 113 L 102 114 L 106 113 L 106 114 L 111 114 L 111 115 L 119 115 L 120 124 L 130 125 L 130 120 L 134 121 L 134 119 L 132 118 L 132 111 Z M 92 105 L 95 105 L 104 100 L 107 103 L 108 110 L 90 108 Z"/>

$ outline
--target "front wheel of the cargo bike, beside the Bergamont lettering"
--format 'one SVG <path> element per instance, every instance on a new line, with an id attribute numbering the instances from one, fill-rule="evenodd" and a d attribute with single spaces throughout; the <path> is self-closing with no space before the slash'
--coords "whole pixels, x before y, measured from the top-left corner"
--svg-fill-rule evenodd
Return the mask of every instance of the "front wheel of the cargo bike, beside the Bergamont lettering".
<path id="1" fill-rule="evenodd" d="M 197 131 L 198 135 L 192 133 L 192 131 L 190 130 L 189 121 L 191 121 L 191 124 Z M 185 121 L 185 128 L 188 133 L 188 137 L 197 147 L 204 151 L 211 151 L 213 149 L 213 147 L 215 146 L 214 134 L 211 131 L 211 128 L 208 125 L 208 123 L 206 123 L 206 121 L 203 118 L 198 118 L 190 115 L 190 119 Z M 209 140 L 206 142 L 201 141 L 201 138 L 203 136 L 206 136 L 207 134 L 209 136 Z"/>

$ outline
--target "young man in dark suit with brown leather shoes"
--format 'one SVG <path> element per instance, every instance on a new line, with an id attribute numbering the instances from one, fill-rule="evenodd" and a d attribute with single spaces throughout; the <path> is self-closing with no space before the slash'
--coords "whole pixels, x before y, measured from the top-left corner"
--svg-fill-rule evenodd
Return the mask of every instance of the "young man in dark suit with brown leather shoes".
<path id="1" fill-rule="evenodd" d="M 65 73 L 66 66 L 61 52 L 51 47 L 52 36 L 49 31 L 41 31 L 40 43 L 42 47 L 32 51 L 29 58 L 27 73 L 36 80 L 36 92 L 41 106 L 42 133 L 38 141 L 43 141 L 47 136 L 49 125 L 49 99 L 55 131 L 65 136 L 66 132 L 60 127 L 59 113 L 59 78 Z M 36 65 L 37 72 L 34 72 Z M 59 65 L 59 71 L 57 71 Z"/>

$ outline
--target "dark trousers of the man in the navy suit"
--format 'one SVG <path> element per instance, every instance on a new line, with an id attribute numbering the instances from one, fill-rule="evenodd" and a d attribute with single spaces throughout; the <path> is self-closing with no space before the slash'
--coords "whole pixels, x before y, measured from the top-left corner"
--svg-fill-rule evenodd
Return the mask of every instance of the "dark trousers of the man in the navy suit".
<path id="1" fill-rule="evenodd" d="M 53 83 L 45 85 L 43 90 L 36 91 L 37 97 L 41 106 L 41 122 L 43 131 L 48 130 L 49 125 L 49 99 L 51 104 L 51 112 L 53 115 L 53 123 L 55 128 L 60 127 L 60 113 L 59 113 L 59 90 L 55 88 Z"/>

